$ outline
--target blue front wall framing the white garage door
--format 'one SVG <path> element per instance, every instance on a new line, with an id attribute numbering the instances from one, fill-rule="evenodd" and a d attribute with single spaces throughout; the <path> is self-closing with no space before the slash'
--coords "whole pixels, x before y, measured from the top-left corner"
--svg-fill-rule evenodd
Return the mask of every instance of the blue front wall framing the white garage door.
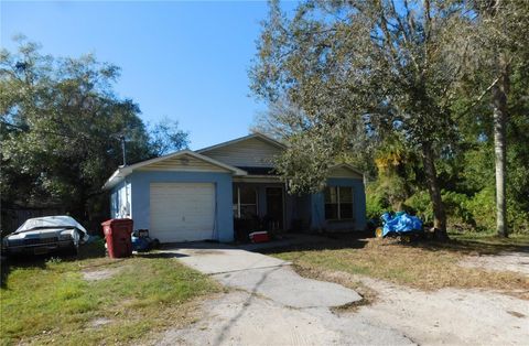
<path id="1" fill-rule="evenodd" d="M 130 175 L 134 228 L 150 227 L 151 183 L 214 183 L 216 196 L 215 233 L 217 240 L 234 240 L 233 185 L 230 173 L 137 171 Z"/>

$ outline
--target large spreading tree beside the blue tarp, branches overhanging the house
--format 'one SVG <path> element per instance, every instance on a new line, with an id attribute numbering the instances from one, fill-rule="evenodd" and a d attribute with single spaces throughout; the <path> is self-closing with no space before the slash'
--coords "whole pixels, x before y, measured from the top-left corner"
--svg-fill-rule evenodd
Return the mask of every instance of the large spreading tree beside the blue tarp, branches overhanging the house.
<path id="1" fill-rule="evenodd" d="M 302 110 L 279 164 L 294 187 L 321 188 L 358 129 L 397 134 L 421 152 L 434 228 L 446 237 L 435 159 L 456 138 L 451 107 L 468 53 L 465 13 L 461 1 L 305 1 L 289 18 L 271 2 L 251 88 Z"/>

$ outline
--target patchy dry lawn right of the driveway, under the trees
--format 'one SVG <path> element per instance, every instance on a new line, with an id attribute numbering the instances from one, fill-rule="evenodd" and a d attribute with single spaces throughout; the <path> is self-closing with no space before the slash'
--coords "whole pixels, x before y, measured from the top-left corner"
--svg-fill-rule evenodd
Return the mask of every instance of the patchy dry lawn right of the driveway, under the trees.
<path id="1" fill-rule="evenodd" d="M 402 245 L 389 239 L 345 236 L 316 247 L 291 248 L 270 255 L 292 261 L 301 274 L 313 278 L 322 279 L 325 273 L 342 271 L 421 290 L 487 288 L 529 299 L 529 278 L 521 273 L 458 266 L 467 256 L 527 251 L 528 235 L 509 239 L 476 235 L 451 235 L 451 238 L 449 242 Z"/>

